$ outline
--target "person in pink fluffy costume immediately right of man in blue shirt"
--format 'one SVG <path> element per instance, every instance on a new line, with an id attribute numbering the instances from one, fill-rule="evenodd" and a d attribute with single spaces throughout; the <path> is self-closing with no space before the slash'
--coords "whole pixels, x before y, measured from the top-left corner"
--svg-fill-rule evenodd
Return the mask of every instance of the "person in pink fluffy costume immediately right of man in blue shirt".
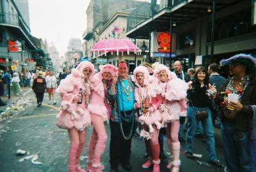
<path id="1" fill-rule="evenodd" d="M 141 136 L 145 138 L 149 159 L 142 165 L 142 168 L 150 168 L 154 164 L 153 171 L 160 171 L 159 143 L 158 135 L 161 129 L 161 113 L 158 108 L 162 103 L 161 95 L 156 94 L 154 83 L 150 82 L 149 73 L 144 66 L 138 66 L 134 69 L 132 81 L 135 83 L 135 100 L 134 106 L 141 109 L 142 114 L 137 114 L 138 121 L 143 128 L 148 127 L 149 131 L 141 130 Z M 140 116 L 141 115 L 141 116 Z M 147 134 L 145 134 L 147 133 Z"/>

